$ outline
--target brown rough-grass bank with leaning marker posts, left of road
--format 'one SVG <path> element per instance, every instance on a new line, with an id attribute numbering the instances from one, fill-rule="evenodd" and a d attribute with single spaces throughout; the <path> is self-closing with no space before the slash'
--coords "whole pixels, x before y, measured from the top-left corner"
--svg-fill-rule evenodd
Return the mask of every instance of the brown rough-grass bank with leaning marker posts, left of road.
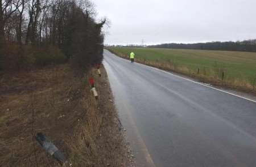
<path id="1" fill-rule="evenodd" d="M 71 166 L 126 166 L 127 145 L 103 67 L 101 72 L 100 78 L 93 68 L 81 79 L 69 65 L 58 65 L 1 74 L 0 166 L 60 166 L 36 142 L 38 132 Z"/>

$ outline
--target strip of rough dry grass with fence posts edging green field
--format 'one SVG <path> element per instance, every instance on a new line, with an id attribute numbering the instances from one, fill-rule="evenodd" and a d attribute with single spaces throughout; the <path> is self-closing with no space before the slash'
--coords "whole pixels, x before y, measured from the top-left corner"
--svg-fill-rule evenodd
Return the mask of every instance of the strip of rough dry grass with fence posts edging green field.
<path id="1" fill-rule="evenodd" d="M 128 55 L 119 53 L 115 54 L 129 59 Z M 212 83 L 214 85 L 224 85 L 226 87 L 242 89 L 245 91 L 256 91 L 256 72 L 255 76 L 248 76 L 242 71 L 231 71 L 229 68 L 219 65 L 218 63 L 209 67 L 177 63 L 171 59 L 160 61 L 158 59 L 151 60 L 146 58 L 135 58 L 135 62 L 191 76 L 199 79 L 201 82 Z"/>

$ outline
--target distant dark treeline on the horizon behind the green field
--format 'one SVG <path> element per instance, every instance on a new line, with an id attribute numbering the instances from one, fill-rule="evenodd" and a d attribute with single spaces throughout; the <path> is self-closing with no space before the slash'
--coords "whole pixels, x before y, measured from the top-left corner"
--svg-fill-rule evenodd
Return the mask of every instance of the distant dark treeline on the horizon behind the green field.
<path id="1" fill-rule="evenodd" d="M 150 45 L 148 48 L 171 48 L 171 49 L 201 49 L 201 50 L 229 50 L 256 52 L 256 40 L 245 40 L 237 42 L 206 42 L 196 44 L 160 44 Z"/>

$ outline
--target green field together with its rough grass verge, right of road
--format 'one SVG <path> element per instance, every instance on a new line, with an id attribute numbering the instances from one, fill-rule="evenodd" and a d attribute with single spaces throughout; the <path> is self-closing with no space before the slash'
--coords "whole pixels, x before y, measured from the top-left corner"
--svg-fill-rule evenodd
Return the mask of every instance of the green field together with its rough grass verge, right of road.
<path id="1" fill-rule="evenodd" d="M 256 94 L 256 53 L 188 49 L 110 47 L 110 52 L 149 66 Z"/>

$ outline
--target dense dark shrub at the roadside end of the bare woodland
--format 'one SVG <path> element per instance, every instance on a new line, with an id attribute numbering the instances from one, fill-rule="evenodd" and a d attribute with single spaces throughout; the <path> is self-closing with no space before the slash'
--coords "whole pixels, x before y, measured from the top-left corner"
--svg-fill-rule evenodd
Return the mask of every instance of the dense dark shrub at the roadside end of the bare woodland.
<path id="1" fill-rule="evenodd" d="M 103 41 L 101 28 L 106 20 L 96 23 L 88 13 L 76 5 L 67 15 L 64 25 L 64 53 L 71 58 L 73 69 L 84 72 L 88 67 L 101 63 L 103 59 Z"/>

